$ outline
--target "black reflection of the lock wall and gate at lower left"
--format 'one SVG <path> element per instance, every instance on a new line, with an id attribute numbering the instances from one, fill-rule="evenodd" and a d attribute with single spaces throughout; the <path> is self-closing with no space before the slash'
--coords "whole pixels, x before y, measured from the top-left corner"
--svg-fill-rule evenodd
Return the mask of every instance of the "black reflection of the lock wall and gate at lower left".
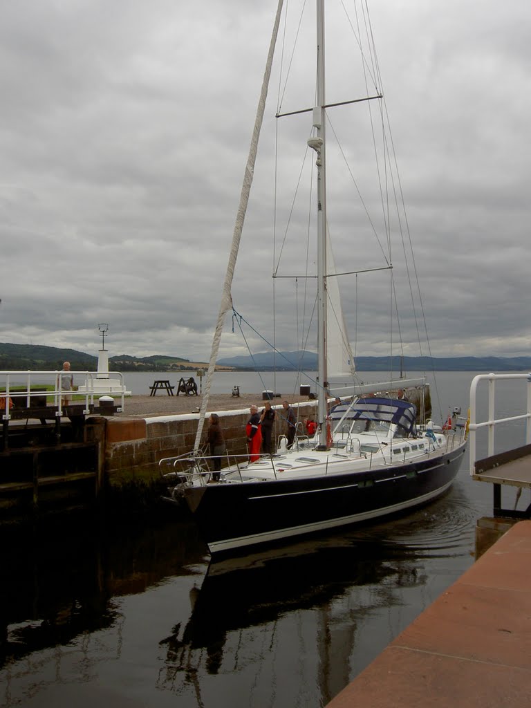
<path id="1" fill-rule="evenodd" d="M 77 524 L 4 530 L 0 666 L 115 624 L 115 598 L 142 593 L 205 547 L 190 524 L 98 528 Z M 175 542 L 175 537 L 179 542 Z"/>

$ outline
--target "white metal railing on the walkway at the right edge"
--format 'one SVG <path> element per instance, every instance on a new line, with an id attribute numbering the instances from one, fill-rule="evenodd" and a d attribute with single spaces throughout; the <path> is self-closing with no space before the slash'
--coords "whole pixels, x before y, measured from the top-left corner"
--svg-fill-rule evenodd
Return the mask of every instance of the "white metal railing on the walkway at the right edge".
<path id="1" fill-rule="evenodd" d="M 520 379 L 525 382 L 526 408 L 525 413 L 509 418 L 495 418 L 495 393 L 496 382 Z M 489 382 L 489 408 L 486 421 L 477 420 L 476 394 L 482 381 Z M 476 464 L 476 431 L 481 428 L 488 428 L 488 457 L 494 454 L 494 429 L 500 423 L 510 423 L 513 421 L 525 421 L 525 443 L 531 442 L 531 373 L 522 374 L 480 374 L 474 376 L 470 384 L 470 423 L 469 423 L 469 450 L 470 450 L 470 474 L 475 473 Z"/>

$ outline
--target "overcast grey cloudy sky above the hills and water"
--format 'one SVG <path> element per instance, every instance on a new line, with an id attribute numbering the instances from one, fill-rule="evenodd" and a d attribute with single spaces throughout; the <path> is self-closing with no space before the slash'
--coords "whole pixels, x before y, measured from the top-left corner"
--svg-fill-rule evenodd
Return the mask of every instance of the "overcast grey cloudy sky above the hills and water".
<path id="1" fill-rule="evenodd" d="M 292 16 L 300 5 L 291 0 Z M 313 21 L 313 0 L 307 6 Z M 327 12 L 336 6 L 343 19 L 327 19 L 326 41 L 341 51 L 327 74 L 330 100 L 343 101 L 357 97 L 348 89 L 358 84 L 343 82 L 346 21 L 342 3 L 326 0 Z M 528 355 L 531 5 L 368 6 L 429 334 L 428 348 L 413 349 L 416 325 L 406 317 L 404 353 Z M 98 324 L 107 323 L 110 355 L 209 358 L 275 11 L 274 0 L 0 4 L 0 341 L 96 354 Z M 293 64 L 290 108 L 312 105 L 312 62 Z M 298 330 L 311 310 L 301 304 L 309 280 L 275 280 L 273 331 L 278 94 L 277 81 L 233 287 L 253 353 L 265 342 L 315 350 Z M 282 121 L 280 156 L 292 176 L 311 119 Z M 295 133 L 300 145 L 287 147 Z M 362 185 L 365 152 L 354 161 Z M 336 261 L 346 270 L 375 265 L 363 227 L 355 241 L 346 182 L 331 185 L 343 195 L 329 200 Z M 285 193 L 288 203 L 292 188 Z M 337 246 L 346 246 L 345 261 Z M 302 273 L 303 247 L 286 246 L 283 273 Z M 389 306 L 377 309 L 376 295 L 388 286 L 355 280 L 341 280 L 355 352 L 385 355 Z M 232 325 L 228 318 L 220 356 L 249 353 Z"/>

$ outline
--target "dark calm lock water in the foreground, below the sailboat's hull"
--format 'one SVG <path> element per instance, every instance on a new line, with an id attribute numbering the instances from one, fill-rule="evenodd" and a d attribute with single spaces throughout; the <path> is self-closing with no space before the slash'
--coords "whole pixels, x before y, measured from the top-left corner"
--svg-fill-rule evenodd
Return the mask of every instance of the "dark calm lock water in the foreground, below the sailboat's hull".
<path id="1" fill-rule="evenodd" d="M 211 566 L 184 521 L 3 538 L 0 705 L 322 706 L 471 564 L 461 492 Z"/>

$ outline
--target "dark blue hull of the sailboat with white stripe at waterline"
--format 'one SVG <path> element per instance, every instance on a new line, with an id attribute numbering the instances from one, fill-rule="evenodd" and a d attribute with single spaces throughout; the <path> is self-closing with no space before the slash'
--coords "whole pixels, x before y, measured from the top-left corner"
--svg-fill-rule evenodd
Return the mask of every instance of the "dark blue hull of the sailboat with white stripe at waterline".
<path id="1" fill-rule="evenodd" d="M 210 552 L 227 552 L 421 506 L 450 487 L 464 451 L 368 472 L 208 484 L 185 499 Z"/>

